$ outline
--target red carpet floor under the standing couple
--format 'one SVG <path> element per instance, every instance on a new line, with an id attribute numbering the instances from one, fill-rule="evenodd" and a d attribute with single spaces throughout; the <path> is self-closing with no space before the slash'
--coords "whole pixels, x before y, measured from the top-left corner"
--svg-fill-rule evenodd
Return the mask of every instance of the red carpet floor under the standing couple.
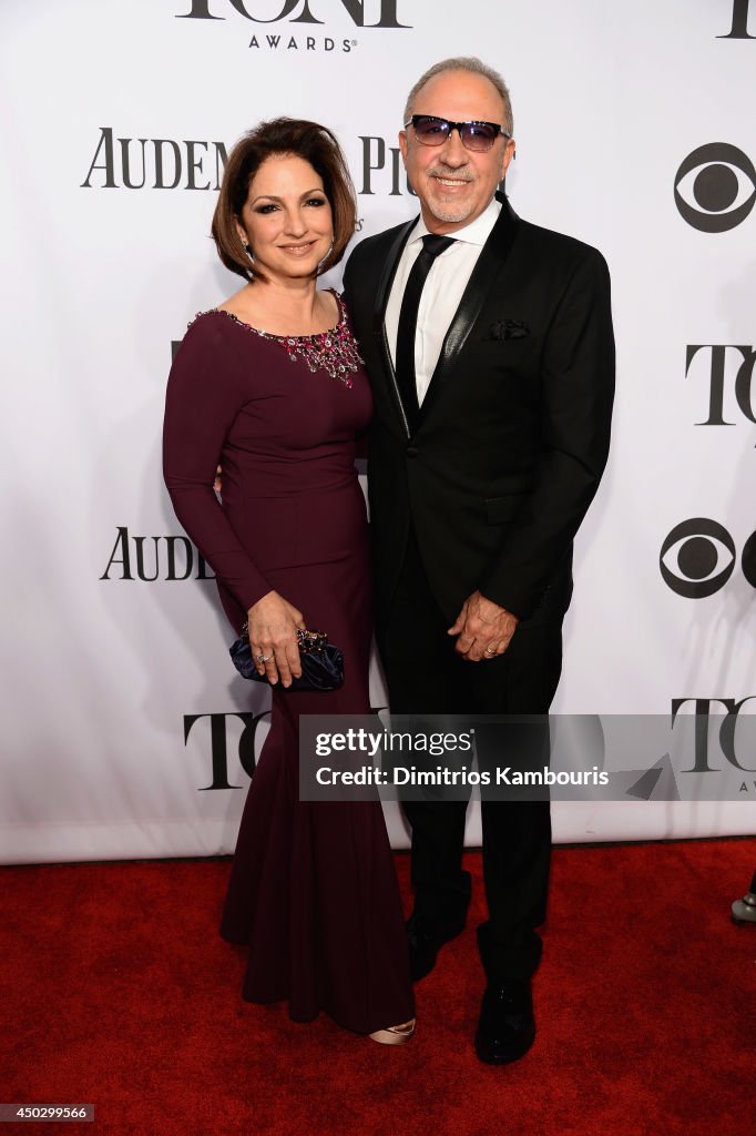
<path id="1" fill-rule="evenodd" d="M 398 1049 L 241 1002 L 242 952 L 217 935 L 227 860 L 3 869 L 0 1101 L 92 1102 L 94 1125 L 23 1128 L 85 1136 L 754 1131 L 756 927 L 729 913 L 756 841 L 556 849 L 539 1033 L 502 1069 L 472 1051 L 467 866 L 471 928 Z"/>

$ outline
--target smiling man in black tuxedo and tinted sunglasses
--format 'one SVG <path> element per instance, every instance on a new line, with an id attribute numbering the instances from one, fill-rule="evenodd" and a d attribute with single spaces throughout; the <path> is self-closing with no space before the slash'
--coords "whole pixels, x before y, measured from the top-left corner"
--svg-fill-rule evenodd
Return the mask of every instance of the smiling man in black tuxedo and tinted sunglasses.
<path id="1" fill-rule="evenodd" d="M 375 402 L 368 481 L 390 709 L 545 715 L 572 540 L 608 450 L 607 268 L 595 249 L 520 220 L 497 192 L 512 111 L 478 59 L 419 80 L 400 147 L 421 215 L 363 241 L 344 277 Z M 415 979 L 464 927 L 465 809 L 405 805 Z M 535 1037 L 548 803 L 484 801 L 481 819 L 489 918 L 476 1049 L 503 1064 Z"/>

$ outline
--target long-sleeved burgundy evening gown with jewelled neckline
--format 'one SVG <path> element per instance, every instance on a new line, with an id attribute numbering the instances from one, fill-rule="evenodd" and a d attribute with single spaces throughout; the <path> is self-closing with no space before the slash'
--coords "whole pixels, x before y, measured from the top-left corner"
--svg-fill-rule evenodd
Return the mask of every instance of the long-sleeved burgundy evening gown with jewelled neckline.
<path id="1" fill-rule="evenodd" d="M 331 376 L 312 353 L 326 340 L 336 358 L 354 349 L 339 311 L 333 332 L 291 339 L 224 311 L 199 316 L 168 382 L 163 468 L 236 632 L 275 588 L 344 652 L 339 691 L 274 688 L 220 929 L 249 944 L 244 999 L 288 999 L 297 1021 L 325 1010 L 367 1034 L 414 1014 L 383 810 L 299 800 L 299 715 L 370 710 L 370 566 L 354 469 L 370 389 L 361 366 Z M 222 506 L 212 491 L 219 461 Z"/>

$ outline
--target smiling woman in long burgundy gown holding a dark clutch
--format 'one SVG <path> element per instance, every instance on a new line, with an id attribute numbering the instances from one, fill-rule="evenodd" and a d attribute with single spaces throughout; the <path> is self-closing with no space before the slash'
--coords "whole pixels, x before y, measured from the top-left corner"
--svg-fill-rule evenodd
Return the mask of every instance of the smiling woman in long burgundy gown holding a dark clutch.
<path id="1" fill-rule="evenodd" d="M 299 1021 L 325 1010 L 398 1044 L 414 1009 L 380 803 L 299 800 L 299 716 L 370 712 L 370 567 L 354 468 L 370 389 L 341 300 L 316 289 L 354 218 L 344 158 L 324 127 L 276 119 L 235 147 L 212 232 L 247 283 L 190 325 L 168 382 L 163 470 L 272 685 L 221 921 L 226 939 L 250 946 L 243 996 L 287 999 Z M 301 674 L 304 626 L 343 650 L 341 690 L 286 690 Z"/>

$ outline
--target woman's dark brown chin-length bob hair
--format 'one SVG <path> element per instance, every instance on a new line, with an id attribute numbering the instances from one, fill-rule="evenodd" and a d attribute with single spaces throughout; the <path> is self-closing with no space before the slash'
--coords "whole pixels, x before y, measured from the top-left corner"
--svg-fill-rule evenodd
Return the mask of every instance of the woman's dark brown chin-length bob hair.
<path id="1" fill-rule="evenodd" d="M 216 211 L 212 239 L 218 256 L 245 281 L 264 279 L 253 273 L 252 262 L 238 235 L 236 223 L 250 192 L 250 182 L 267 158 L 292 154 L 309 161 L 322 178 L 334 217 L 334 244 L 318 266 L 318 276 L 337 265 L 354 235 L 356 198 L 346 159 L 336 137 L 326 126 L 302 118 L 274 118 L 247 131 L 228 156 Z"/>

